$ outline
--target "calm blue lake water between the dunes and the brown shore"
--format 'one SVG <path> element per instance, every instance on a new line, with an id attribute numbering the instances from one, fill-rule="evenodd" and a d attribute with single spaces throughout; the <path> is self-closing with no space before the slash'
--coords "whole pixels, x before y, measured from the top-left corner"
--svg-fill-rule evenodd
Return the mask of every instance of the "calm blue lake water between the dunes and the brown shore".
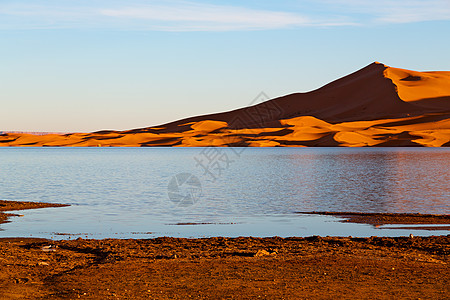
<path id="1" fill-rule="evenodd" d="M 0 148 L 0 199 L 72 205 L 0 237 L 448 234 L 297 212 L 449 214 L 449 170 L 445 148 Z"/>

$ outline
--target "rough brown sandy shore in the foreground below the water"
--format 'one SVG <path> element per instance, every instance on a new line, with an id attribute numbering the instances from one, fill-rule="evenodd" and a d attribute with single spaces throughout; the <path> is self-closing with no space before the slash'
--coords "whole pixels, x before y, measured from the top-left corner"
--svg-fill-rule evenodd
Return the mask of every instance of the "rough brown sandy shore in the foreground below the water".
<path id="1" fill-rule="evenodd" d="M 450 236 L 5 238 L 0 298 L 445 299 L 449 254 Z"/>

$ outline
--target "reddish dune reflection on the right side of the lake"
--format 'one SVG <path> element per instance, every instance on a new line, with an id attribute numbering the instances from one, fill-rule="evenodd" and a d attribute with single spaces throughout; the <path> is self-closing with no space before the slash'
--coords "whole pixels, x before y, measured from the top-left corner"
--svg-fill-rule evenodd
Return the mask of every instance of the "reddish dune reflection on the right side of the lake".
<path id="1" fill-rule="evenodd" d="M 279 192 L 290 196 L 290 203 L 296 209 L 449 211 L 448 150 L 332 148 L 302 151 L 271 157 L 272 161 L 288 161 L 283 164 L 287 183 L 281 187 L 289 192 L 281 189 Z"/>

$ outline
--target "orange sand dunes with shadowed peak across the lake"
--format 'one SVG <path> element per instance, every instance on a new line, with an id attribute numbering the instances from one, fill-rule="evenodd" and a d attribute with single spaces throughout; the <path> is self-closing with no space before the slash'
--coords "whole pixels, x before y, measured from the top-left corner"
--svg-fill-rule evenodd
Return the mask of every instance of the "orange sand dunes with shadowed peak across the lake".
<path id="1" fill-rule="evenodd" d="M 308 93 L 127 131 L 3 133 L 0 146 L 450 146 L 450 72 L 372 63 Z"/>

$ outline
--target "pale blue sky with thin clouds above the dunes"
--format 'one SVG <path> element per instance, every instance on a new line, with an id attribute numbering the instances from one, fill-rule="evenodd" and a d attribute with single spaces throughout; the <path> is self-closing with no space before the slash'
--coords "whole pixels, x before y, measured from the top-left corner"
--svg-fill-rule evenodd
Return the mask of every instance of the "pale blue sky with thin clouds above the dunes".
<path id="1" fill-rule="evenodd" d="M 0 131 L 156 126 L 379 61 L 450 71 L 449 0 L 0 0 Z"/>

